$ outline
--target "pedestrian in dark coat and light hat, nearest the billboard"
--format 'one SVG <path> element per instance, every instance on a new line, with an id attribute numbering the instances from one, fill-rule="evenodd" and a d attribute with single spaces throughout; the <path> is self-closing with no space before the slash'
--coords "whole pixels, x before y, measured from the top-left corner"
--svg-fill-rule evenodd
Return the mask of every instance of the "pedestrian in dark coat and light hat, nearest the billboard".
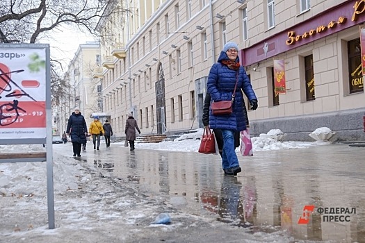
<path id="1" fill-rule="evenodd" d="M 74 156 L 81 156 L 81 144 L 86 143 L 86 135 L 88 135 L 88 128 L 86 127 L 86 121 L 83 115 L 81 115 L 80 109 L 75 108 L 72 115 L 67 122 L 66 134 L 70 137 L 72 148 L 74 150 Z"/>

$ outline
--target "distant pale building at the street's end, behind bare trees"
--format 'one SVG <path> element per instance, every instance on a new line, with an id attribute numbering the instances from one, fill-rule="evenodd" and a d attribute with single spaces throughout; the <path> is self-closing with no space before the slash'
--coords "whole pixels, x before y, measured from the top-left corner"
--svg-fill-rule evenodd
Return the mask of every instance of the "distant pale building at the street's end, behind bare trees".
<path id="1" fill-rule="evenodd" d="M 94 120 L 92 113 L 102 111 L 102 83 L 92 77 L 95 63 L 100 63 L 99 42 L 80 44 L 63 76 L 70 84 L 69 90 L 60 106 L 54 109 L 57 117 L 54 121 L 61 134 L 66 131 L 68 118 L 75 107 L 80 108 L 88 126 Z"/>

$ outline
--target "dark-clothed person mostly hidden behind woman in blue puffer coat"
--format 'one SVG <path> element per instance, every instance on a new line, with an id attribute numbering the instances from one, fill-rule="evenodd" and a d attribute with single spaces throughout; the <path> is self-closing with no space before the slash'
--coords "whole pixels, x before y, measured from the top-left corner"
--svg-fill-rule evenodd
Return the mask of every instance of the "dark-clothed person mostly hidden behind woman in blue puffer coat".
<path id="1" fill-rule="evenodd" d="M 209 126 L 209 106 L 210 105 L 211 105 L 211 95 L 208 92 L 206 92 L 205 98 L 204 98 L 204 108 L 203 108 L 203 116 L 202 116 L 202 121 L 203 121 L 204 127 Z M 249 126 L 248 125 L 248 122 L 249 122 L 248 114 L 247 114 L 245 103 L 243 103 L 243 113 L 245 115 L 246 126 Z M 217 144 L 218 144 L 220 157 L 222 157 L 222 149 L 223 149 L 222 131 L 220 131 L 220 129 L 213 129 L 213 132 L 214 132 L 214 136 L 216 137 Z M 238 148 L 238 146 L 240 146 L 240 132 L 236 131 L 236 132 L 234 132 L 234 147 Z"/>

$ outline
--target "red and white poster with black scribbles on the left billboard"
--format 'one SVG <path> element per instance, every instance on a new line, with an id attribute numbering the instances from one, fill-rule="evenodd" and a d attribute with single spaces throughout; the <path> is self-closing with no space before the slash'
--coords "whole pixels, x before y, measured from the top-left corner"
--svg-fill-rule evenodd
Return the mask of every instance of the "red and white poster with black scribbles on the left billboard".
<path id="1" fill-rule="evenodd" d="M 46 49 L 0 48 L 0 137 L 46 137 Z"/>

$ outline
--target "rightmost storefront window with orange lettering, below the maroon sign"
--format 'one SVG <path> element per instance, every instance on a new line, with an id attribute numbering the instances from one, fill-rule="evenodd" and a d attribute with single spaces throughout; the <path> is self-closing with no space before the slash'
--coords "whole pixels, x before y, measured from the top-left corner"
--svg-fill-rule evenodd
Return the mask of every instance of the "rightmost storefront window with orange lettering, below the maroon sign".
<path id="1" fill-rule="evenodd" d="M 348 72 L 350 94 L 362 92 L 364 90 L 364 80 L 362 77 L 362 60 L 359 38 L 348 42 Z"/>

